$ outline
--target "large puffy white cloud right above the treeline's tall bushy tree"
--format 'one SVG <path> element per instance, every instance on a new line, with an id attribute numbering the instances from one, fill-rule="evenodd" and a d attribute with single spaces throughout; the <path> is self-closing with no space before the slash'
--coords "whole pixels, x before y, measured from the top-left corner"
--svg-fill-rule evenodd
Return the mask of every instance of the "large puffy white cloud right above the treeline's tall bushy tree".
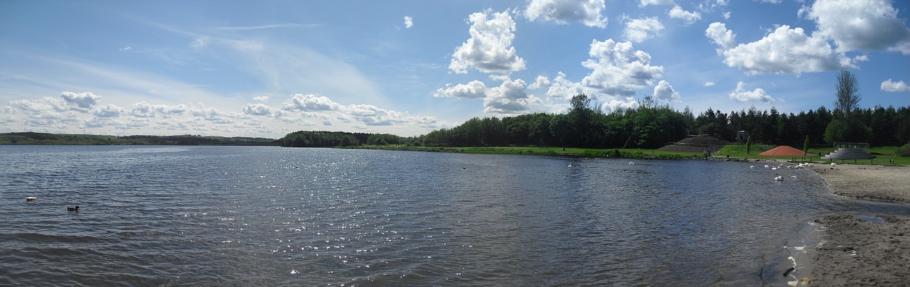
<path id="1" fill-rule="evenodd" d="M 581 79 L 581 84 L 598 93 L 612 96 L 630 96 L 636 89 L 653 84 L 663 74 L 663 67 L 651 65 L 651 55 L 636 51 L 632 43 L 615 43 L 612 39 L 591 42 L 591 59 L 581 63 L 591 69 Z"/>

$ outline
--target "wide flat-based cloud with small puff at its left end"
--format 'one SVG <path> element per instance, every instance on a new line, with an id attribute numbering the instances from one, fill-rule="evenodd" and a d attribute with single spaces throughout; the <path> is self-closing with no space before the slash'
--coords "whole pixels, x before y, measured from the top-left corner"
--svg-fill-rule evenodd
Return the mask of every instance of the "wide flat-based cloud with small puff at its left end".
<path id="1" fill-rule="evenodd" d="M 735 44 L 733 31 L 713 23 L 705 35 L 720 45 L 723 63 L 739 67 L 746 74 L 801 74 L 853 67 L 853 61 L 834 52 L 822 37 L 809 36 L 803 28 L 777 27 L 773 33 L 748 44 Z"/>

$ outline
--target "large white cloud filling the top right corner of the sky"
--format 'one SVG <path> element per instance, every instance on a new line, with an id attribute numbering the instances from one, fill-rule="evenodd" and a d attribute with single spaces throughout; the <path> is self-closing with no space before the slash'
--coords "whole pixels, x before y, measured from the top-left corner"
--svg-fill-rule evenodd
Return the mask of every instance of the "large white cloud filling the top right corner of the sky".
<path id="1" fill-rule="evenodd" d="M 818 33 L 834 40 L 837 51 L 898 50 L 910 42 L 910 29 L 897 17 L 893 1 L 817 0 L 808 11 Z"/>

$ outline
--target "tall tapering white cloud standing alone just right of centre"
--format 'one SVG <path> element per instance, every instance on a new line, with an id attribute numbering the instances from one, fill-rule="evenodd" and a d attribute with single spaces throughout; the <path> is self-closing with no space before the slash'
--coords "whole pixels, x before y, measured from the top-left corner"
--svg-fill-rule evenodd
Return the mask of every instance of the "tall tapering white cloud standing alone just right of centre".
<path id="1" fill-rule="evenodd" d="M 490 16 L 490 18 L 488 18 Z M 515 38 L 515 21 L 510 10 L 501 13 L 474 13 L 468 18 L 470 39 L 455 48 L 449 69 L 467 74 L 468 68 L 483 73 L 509 73 L 525 69 L 524 59 L 511 46 Z"/>

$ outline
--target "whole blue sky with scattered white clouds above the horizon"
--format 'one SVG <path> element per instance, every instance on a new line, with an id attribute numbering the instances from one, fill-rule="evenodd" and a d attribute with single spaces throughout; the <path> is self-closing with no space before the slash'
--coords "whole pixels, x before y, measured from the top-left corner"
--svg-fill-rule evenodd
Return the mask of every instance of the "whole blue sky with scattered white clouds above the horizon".
<path id="1" fill-rule="evenodd" d="M 910 1 L 0 1 L 0 133 L 427 134 L 472 117 L 910 105 Z"/>

